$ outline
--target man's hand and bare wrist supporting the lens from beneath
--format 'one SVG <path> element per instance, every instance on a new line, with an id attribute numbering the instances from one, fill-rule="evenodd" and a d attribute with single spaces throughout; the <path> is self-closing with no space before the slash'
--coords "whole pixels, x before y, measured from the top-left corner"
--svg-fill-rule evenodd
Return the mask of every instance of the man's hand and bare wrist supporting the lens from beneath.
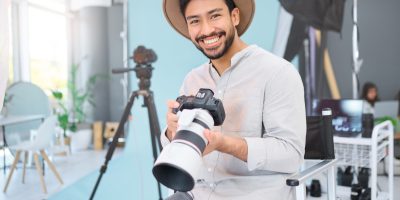
<path id="1" fill-rule="evenodd" d="M 205 129 L 204 136 L 208 140 L 208 144 L 204 149 L 203 156 L 211 153 L 212 151 L 220 151 L 247 162 L 247 142 L 241 137 L 234 137 L 224 135 L 217 131 L 210 131 Z"/>

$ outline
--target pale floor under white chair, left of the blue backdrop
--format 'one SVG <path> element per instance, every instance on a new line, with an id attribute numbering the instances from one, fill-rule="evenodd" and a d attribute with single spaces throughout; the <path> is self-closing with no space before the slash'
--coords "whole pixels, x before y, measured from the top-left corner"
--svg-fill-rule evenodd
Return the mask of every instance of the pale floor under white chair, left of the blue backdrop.
<path id="1" fill-rule="evenodd" d="M 117 149 L 113 158 L 116 158 L 121 153 Z M 22 164 L 18 165 L 18 169 L 14 171 L 13 177 L 8 186 L 7 193 L 3 193 L 3 187 L 6 182 L 6 176 L 1 170 L 0 173 L 0 200 L 40 200 L 47 199 L 54 193 L 61 191 L 75 181 L 84 177 L 85 175 L 100 168 L 104 163 L 106 151 L 80 151 L 72 153 L 69 156 L 54 156 L 52 159 L 53 164 L 61 175 L 64 184 L 60 185 L 54 174 L 49 168 L 46 168 L 45 182 L 47 186 L 47 194 L 43 193 L 40 185 L 39 176 L 34 168 L 31 166 L 26 171 L 25 184 L 22 184 Z M 2 157 L 1 157 L 2 159 Z M 2 160 L 1 160 L 2 161 Z M 7 170 L 8 175 L 9 170 Z M 93 183 L 94 184 L 94 183 Z"/>

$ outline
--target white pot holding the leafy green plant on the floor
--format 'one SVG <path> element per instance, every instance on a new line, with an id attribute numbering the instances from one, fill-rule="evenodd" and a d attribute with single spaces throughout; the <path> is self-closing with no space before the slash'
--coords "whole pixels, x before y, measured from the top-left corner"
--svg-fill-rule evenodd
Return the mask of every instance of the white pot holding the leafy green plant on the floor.
<path id="1" fill-rule="evenodd" d="M 71 136 L 71 151 L 82 151 L 89 148 L 92 142 L 92 129 L 78 130 Z"/>

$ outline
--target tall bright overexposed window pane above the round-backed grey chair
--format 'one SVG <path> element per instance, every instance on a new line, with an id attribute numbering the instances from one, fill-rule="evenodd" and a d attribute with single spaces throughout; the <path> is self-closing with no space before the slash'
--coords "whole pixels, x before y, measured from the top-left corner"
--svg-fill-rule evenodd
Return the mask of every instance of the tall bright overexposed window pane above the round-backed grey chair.
<path id="1" fill-rule="evenodd" d="M 65 89 L 68 78 L 68 17 L 62 0 L 28 4 L 29 68 L 32 83 L 46 92 Z"/>

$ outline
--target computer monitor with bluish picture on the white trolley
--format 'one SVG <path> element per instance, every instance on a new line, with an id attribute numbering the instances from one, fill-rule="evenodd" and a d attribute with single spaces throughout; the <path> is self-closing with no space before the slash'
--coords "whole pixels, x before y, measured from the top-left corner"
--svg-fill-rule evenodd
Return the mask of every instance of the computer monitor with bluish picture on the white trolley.
<path id="1" fill-rule="evenodd" d="M 321 115 L 323 108 L 332 110 L 335 135 L 356 137 L 362 132 L 363 101 L 354 99 L 322 99 L 313 102 L 313 114 Z"/>

